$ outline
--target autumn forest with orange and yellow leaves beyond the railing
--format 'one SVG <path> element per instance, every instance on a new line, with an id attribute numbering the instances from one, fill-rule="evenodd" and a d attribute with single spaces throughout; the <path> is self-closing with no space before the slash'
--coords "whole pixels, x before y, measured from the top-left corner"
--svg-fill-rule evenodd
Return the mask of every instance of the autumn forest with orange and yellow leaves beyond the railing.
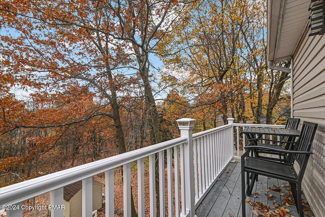
<path id="1" fill-rule="evenodd" d="M 267 67 L 266 10 L 1 1 L 1 187 L 176 138 L 181 117 L 196 119 L 194 132 L 228 117 L 284 123 L 290 74 Z"/>

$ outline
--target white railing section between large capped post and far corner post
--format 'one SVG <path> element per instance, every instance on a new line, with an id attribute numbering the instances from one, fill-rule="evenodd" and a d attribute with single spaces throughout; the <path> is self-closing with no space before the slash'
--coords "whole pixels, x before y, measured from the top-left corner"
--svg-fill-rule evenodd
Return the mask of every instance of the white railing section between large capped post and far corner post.
<path id="1" fill-rule="evenodd" d="M 229 124 L 193 135 L 196 205 L 209 192 L 222 170 L 233 159 L 233 127 Z"/>

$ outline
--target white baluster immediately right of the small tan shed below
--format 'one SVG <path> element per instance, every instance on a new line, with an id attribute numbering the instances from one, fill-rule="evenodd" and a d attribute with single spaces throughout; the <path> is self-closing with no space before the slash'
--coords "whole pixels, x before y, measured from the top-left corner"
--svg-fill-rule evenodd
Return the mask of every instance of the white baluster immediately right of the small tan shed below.
<path id="1" fill-rule="evenodd" d="M 114 169 L 105 171 L 105 213 L 114 217 Z"/>

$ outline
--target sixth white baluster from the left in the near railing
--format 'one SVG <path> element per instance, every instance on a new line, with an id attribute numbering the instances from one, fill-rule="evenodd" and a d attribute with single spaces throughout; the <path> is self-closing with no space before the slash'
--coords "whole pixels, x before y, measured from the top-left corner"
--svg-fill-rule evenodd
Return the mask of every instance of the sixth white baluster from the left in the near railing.
<path id="1" fill-rule="evenodd" d="M 138 216 L 144 216 L 144 160 L 138 160 Z"/>

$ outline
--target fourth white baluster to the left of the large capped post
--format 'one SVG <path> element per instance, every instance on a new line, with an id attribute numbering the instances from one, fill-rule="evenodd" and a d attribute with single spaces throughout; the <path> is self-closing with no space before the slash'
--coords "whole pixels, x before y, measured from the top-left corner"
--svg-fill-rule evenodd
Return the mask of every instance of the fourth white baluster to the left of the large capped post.
<path id="1" fill-rule="evenodd" d="M 165 216 L 166 201 L 165 201 L 165 152 L 164 151 L 159 151 L 158 162 L 159 162 L 159 212 L 160 212 L 160 216 Z"/>

